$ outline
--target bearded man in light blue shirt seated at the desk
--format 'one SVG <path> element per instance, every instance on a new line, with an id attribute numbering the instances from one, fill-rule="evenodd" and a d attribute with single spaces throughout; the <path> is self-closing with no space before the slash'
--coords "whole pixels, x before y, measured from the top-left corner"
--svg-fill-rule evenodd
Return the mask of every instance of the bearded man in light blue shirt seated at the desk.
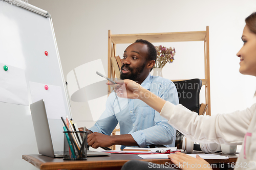
<path id="1" fill-rule="evenodd" d="M 136 40 L 123 54 L 121 79 L 131 79 L 160 98 L 179 104 L 178 93 L 170 80 L 151 76 L 157 52 L 146 40 Z M 120 135 L 110 136 L 119 123 Z M 147 148 L 150 144 L 175 146 L 176 129 L 167 123 L 150 106 L 138 99 L 118 98 L 115 92 L 109 95 L 106 109 L 96 124 L 89 129 L 88 144 L 93 148 L 120 144 Z"/>

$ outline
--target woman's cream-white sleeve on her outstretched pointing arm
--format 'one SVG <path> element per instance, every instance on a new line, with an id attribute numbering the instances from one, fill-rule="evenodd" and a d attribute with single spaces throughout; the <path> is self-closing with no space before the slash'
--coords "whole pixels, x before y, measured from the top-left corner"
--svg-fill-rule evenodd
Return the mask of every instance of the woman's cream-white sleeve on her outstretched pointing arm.
<path id="1" fill-rule="evenodd" d="M 166 102 L 160 115 L 168 123 L 195 142 L 242 144 L 256 104 L 243 111 L 214 116 L 198 115 L 182 105 Z"/>

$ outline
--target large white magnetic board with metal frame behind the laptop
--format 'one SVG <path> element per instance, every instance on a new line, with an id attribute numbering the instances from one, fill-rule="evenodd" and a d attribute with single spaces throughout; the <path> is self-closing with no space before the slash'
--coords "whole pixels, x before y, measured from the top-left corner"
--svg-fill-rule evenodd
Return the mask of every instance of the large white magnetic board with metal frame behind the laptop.
<path id="1" fill-rule="evenodd" d="M 57 101 L 62 104 L 61 114 L 71 117 L 52 19 L 50 14 L 43 16 L 23 7 L 0 1 L 0 23 L 0 63 L 2 64 L 0 71 L 6 74 L 5 80 L 0 77 L 0 83 L 12 84 L 2 87 L 2 91 L 8 92 L 0 93 L 0 95 L 5 95 L 3 101 L 0 102 L 2 118 L 0 169 L 36 169 L 22 159 L 22 155 L 38 154 L 29 108 L 29 104 L 33 101 L 30 85 L 37 83 L 49 85 L 49 90 L 51 86 L 54 86 L 52 91 L 59 89 L 58 93 L 50 91 L 49 95 L 53 102 Z M 48 56 L 45 54 L 46 51 Z M 9 66 L 9 72 L 3 72 L 3 65 Z M 15 73 L 15 70 L 20 71 Z M 17 76 L 20 72 L 24 72 L 26 80 Z M 15 81 L 11 80 L 16 79 L 13 76 L 20 80 L 13 83 Z M 6 89 L 7 87 L 10 89 Z M 40 90 L 44 92 L 44 86 Z M 28 103 L 26 105 L 26 102 L 18 104 L 5 101 L 5 98 L 12 99 L 9 95 L 21 95 L 20 97 Z M 63 134 L 59 133 L 62 131 L 60 117 L 48 121 L 54 150 L 62 150 Z"/>

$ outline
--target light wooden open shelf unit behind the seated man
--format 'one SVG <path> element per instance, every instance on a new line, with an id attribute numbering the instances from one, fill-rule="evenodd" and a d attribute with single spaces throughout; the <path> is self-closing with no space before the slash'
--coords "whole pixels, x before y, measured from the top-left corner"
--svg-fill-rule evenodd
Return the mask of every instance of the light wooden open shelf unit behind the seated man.
<path id="1" fill-rule="evenodd" d="M 134 43 L 137 39 L 145 39 L 149 42 L 181 42 L 204 41 L 204 73 L 201 79 L 205 85 L 205 102 L 208 105 L 206 115 L 210 115 L 210 63 L 209 63 L 209 27 L 206 31 L 176 32 L 176 33 L 148 33 L 148 34 L 111 34 L 109 30 L 108 41 L 108 77 L 115 78 L 115 72 L 111 64 L 111 57 L 116 54 L 116 44 Z M 181 81 L 181 80 L 172 80 Z M 108 92 L 112 91 L 109 87 Z"/>

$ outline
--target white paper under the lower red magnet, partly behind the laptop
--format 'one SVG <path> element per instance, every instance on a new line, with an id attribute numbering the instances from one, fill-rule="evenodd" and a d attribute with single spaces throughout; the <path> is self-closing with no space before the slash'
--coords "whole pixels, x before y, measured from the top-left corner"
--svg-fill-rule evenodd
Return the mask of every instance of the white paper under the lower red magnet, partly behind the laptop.
<path id="1" fill-rule="evenodd" d="M 44 99 L 47 117 L 51 119 L 60 119 L 66 117 L 65 105 L 60 86 L 50 84 L 41 84 L 29 82 L 32 102 Z M 45 85 L 49 87 L 45 89 Z"/>

